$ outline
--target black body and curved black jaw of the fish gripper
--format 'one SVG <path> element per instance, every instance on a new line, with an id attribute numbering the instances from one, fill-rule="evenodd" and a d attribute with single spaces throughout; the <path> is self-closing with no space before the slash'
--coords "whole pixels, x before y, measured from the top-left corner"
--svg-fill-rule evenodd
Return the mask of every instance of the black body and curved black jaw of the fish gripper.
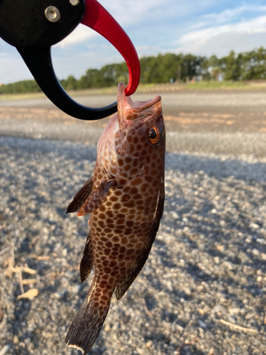
<path id="1" fill-rule="evenodd" d="M 52 5 L 51 5 L 52 3 Z M 62 88 L 52 67 L 50 48 L 82 21 L 85 0 L 0 0 L 0 37 L 16 47 L 45 95 L 77 119 L 103 119 L 117 111 L 117 102 L 85 107 Z"/>

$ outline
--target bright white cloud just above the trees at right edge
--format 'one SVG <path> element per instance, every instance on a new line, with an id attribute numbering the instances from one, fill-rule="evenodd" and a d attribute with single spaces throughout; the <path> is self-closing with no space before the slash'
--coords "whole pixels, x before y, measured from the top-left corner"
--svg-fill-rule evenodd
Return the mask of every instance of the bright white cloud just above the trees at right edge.
<path id="1" fill-rule="evenodd" d="M 199 55 L 226 55 L 230 50 L 253 50 L 265 43 L 265 33 L 266 16 L 259 16 L 240 23 L 187 33 L 180 38 L 176 51 Z"/>

